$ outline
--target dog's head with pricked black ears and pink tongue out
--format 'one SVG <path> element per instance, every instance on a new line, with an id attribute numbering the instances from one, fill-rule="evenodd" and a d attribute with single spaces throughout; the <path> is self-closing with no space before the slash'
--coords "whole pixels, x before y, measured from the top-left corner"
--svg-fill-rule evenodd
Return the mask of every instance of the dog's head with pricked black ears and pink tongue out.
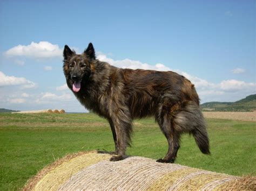
<path id="1" fill-rule="evenodd" d="M 79 92 L 91 75 L 91 64 L 95 60 L 95 50 L 92 43 L 89 43 L 87 49 L 82 54 L 76 54 L 65 45 L 63 70 L 66 82 L 73 92 Z"/>

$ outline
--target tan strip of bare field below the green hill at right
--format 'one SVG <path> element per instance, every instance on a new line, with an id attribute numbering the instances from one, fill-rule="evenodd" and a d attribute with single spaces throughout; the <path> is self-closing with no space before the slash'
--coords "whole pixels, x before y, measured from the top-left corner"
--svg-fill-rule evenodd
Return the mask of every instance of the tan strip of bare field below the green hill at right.
<path id="1" fill-rule="evenodd" d="M 256 121 L 254 112 L 203 112 L 205 118 L 232 119 L 239 121 Z"/>

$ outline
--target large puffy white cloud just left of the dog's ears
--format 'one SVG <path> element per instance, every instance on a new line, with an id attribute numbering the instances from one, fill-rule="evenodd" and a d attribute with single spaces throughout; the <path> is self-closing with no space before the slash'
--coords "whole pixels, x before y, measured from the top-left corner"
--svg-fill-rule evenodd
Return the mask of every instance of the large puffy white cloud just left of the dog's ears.
<path id="1" fill-rule="evenodd" d="M 30 45 L 17 45 L 5 52 L 8 57 L 28 57 L 34 59 L 45 59 L 62 57 L 62 50 L 57 44 L 46 41 L 39 43 L 32 42 Z"/>

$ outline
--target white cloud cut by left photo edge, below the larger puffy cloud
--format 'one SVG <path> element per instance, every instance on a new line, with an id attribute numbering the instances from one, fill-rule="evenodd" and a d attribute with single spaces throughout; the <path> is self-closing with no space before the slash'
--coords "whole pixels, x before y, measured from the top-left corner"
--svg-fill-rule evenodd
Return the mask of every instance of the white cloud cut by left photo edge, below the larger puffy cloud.
<path id="1" fill-rule="evenodd" d="M 6 76 L 3 72 L 0 71 L 0 86 L 12 86 L 12 85 L 21 85 L 22 88 L 33 88 L 36 87 L 36 84 L 26 78 L 18 78 L 14 76 Z"/>

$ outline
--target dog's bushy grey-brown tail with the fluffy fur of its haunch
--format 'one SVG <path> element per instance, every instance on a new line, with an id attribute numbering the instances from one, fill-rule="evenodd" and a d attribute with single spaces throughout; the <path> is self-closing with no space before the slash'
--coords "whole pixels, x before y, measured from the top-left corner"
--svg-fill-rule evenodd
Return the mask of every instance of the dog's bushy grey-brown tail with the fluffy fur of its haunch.
<path id="1" fill-rule="evenodd" d="M 174 118 L 174 128 L 179 132 L 192 133 L 200 151 L 210 154 L 209 139 L 203 113 L 196 103 L 190 101 Z"/>

